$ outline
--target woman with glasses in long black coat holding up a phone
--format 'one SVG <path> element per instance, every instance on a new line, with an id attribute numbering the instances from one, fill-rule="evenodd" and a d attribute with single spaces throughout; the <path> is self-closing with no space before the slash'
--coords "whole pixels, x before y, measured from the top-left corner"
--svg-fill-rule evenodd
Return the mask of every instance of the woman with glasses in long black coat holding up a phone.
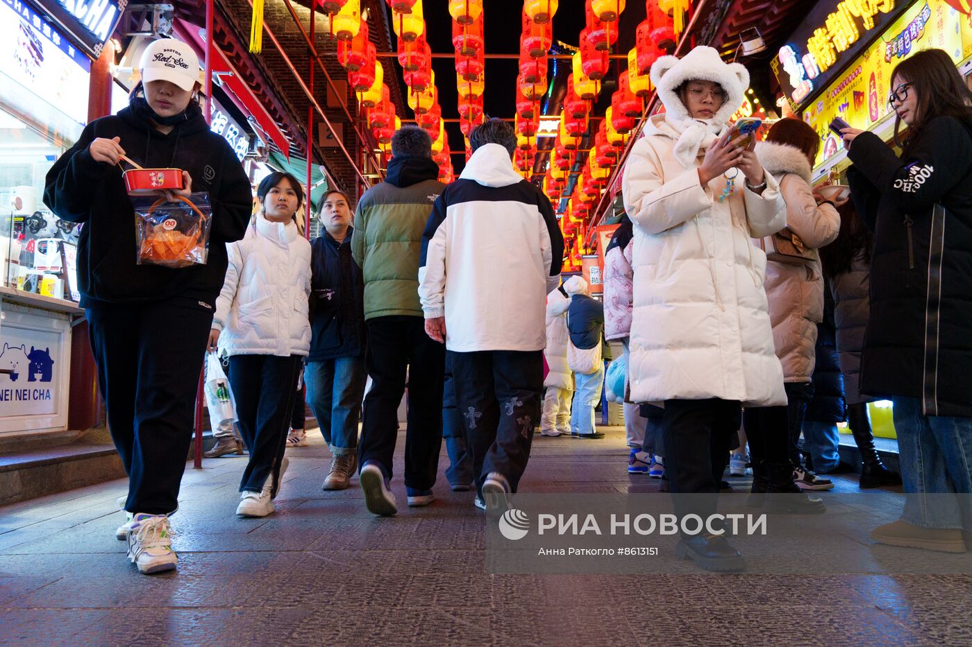
<path id="1" fill-rule="evenodd" d="M 941 50 L 898 63 L 891 87 L 900 157 L 873 133 L 842 131 L 853 200 L 874 231 L 860 391 L 894 402 L 909 494 L 902 518 L 871 536 L 963 553 L 961 530 L 972 531 L 972 92 Z"/>

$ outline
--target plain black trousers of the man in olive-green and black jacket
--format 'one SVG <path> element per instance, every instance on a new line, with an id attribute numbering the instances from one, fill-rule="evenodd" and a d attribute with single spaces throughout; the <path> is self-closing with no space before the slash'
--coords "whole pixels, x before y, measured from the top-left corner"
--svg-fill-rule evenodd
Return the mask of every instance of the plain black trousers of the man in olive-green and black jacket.
<path id="1" fill-rule="evenodd" d="M 367 321 L 367 374 L 358 464 L 373 462 L 392 478 L 399 434 L 399 403 L 408 371 L 405 486 L 431 490 L 442 447 L 442 379 L 445 346 L 426 334 L 421 317 L 375 317 Z M 360 469 L 360 467 L 359 467 Z"/>

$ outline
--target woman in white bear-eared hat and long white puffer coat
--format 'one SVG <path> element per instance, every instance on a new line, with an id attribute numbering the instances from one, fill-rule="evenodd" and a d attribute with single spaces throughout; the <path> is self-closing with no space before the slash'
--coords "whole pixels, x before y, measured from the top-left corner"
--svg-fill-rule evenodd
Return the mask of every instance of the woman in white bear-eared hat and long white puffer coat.
<path id="1" fill-rule="evenodd" d="M 622 185 L 635 223 L 631 398 L 665 403 L 671 491 L 716 493 L 742 406 L 786 403 L 766 255 L 750 240 L 782 229 L 785 205 L 755 153 L 728 142 L 745 67 L 699 47 L 659 58 L 651 81 L 666 112 L 645 126 Z M 684 537 L 678 551 L 703 567 L 742 567 L 721 537 Z"/>

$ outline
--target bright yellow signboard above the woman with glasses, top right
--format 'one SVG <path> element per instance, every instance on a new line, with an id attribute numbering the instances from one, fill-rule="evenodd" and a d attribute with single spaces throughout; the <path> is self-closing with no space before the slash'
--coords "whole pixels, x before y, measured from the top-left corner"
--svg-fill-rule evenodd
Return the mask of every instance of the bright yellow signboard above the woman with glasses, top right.
<path id="1" fill-rule="evenodd" d="M 887 94 L 894 66 L 916 51 L 932 48 L 947 51 L 955 63 L 967 57 L 972 53 L 972 17 L 956 11 L 947 0 L 919 0 L 891 23 L 804 111 L 803 119 L 823 141 L 816 164 L 843 148 L 828 128 L 830 121 L 840 117 L 862 130 L 873 126 L 890 112 Z"/>

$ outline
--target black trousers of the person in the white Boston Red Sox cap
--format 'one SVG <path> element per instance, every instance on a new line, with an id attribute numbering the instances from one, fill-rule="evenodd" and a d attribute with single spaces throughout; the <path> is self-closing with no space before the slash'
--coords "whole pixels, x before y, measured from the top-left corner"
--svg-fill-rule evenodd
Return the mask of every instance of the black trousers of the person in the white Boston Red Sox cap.
<path id="1" fill-rule="evenodd" d="M 213 310 L 174 297 L 102 302 L 86 313 L 108 428 L 128 474 L 124 508 L 175 512 Z"/>

